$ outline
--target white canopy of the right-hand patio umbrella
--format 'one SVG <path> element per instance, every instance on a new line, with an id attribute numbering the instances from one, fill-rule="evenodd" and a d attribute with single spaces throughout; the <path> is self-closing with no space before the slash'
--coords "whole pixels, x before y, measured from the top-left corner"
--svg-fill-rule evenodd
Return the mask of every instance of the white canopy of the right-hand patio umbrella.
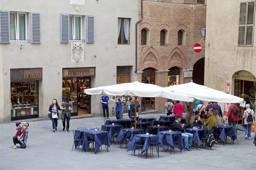
<path id="1" fill-rule="evenodd" d="M 204 85 L 198 85 L 193 82 L 189 82 L 181 85 L 173 85 L 166 87 L 169 91 L 173 91 L 178 94 L 187 94 L 193 96 L 196 99 L 212 101 L 212 102 L 229 102 L 229 103 L 242 103 L 244 99 L 227 94 Z"/>

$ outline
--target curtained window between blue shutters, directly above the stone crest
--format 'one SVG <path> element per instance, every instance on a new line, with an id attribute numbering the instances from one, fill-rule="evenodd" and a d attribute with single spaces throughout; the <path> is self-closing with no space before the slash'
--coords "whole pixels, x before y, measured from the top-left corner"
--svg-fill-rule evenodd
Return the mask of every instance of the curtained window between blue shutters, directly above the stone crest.
<path id="1" fill-rule="evenodd" d="M 70 15 L 69 17 L 69 39 L 81 40 L 82 39 L 82 16 Z"/>

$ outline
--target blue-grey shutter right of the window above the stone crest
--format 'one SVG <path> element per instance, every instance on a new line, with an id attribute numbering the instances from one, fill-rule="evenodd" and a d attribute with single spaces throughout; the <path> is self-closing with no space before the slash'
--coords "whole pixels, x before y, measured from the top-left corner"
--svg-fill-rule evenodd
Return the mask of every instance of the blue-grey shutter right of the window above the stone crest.
<path id="1" fill-rule="evenodd" d="M 95 37 L 94 16 L 86 16 L 86 42 L 93 43 Z"/>

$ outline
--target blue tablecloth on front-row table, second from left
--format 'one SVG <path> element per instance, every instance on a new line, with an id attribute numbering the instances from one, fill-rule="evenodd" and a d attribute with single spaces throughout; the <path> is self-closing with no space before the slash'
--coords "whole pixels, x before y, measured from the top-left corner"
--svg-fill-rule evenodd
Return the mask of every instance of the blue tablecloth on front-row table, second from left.
<path id="1" fill-rule="evenodd" d="M 146 135 L 146 134 L 139 134 L 139 135 L 135 135 L 135 136 L 138 136 L 140 137 L 141 136 L 141 142 L 140 141 L 136 141 L 137 143 L 140 143 L 140 144 L 143 144 L 143 148 L 142 148 L 142 153 L 145 152 L 145 150 L 148 149 L 149 145 L 150 145 L 150 136 L 151 135 Z M 157 135 L 152 135 L 152 136 L 157 136 Z M 157 146 L 160 146 L 160 147 L 163 147 L 163 143 L 160 141 L 160 138 L 159 136 L 158 137 L 158 142 L 157 142 Z M 152 144 L 152 143 L 151 143 Z M 135 137 L 132 139 L 132 141 L 130 142 L 130 146 L 128 147 L 127 151 L 129 150 L 134 150 L 134 147 L 135 147 Z M 139 149 L 138 146 L 136 146 L 135 149 Z"/>

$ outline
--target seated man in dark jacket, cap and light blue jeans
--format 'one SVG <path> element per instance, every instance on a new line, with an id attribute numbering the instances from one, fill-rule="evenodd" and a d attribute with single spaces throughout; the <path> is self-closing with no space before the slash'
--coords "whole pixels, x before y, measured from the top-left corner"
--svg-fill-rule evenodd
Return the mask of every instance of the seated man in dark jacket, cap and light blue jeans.
<path id="1" fill-rule="evenodd" d="M 176 120 L 173 123 L 174 130 L 181 132 L 182 139 L 184 139 L 184 143 L 185 143 L 185 150 L 190 151 L 191 149 L 195 149 L 194 147 L 191 146 L 194 135 L 191 133 L 186 133 L 185 131 L 186 125 L 181 124 L 180 121 L 181 121 L 181 116 L 180 115 L 176 116 Z"/>

